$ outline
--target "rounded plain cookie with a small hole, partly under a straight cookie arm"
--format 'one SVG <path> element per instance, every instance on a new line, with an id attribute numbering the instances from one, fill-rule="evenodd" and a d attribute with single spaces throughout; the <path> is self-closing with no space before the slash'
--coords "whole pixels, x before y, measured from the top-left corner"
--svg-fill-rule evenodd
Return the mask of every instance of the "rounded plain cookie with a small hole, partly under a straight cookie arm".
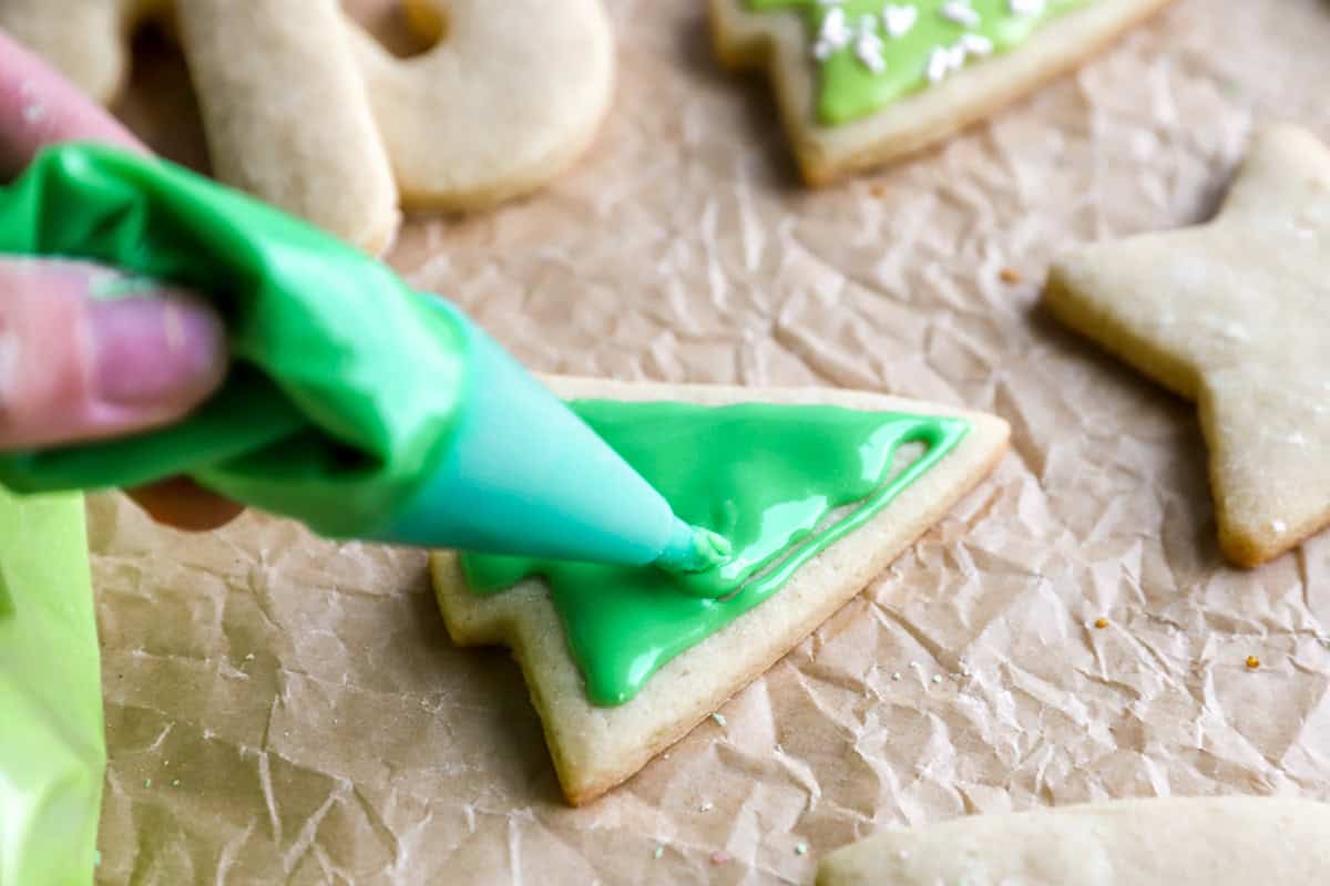
<path id="1" fill-rule="evenodd" d="M 356 54 L 412 209 L 477 209 L 539 187 L 591 143 L 613 85 L 600 0 L 406 0 L 443 40 L 399 60 L 356 32 Z"/>

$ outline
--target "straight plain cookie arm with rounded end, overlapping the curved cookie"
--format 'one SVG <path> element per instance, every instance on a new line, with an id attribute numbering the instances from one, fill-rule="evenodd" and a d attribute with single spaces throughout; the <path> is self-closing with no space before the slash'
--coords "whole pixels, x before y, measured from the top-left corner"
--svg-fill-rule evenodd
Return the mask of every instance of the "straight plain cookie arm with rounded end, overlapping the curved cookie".
<path id="1" fill-rule="evenodd" d="M 213 173 L 382 252 L 398 195 L 336 0 L 176 0 Z"/>

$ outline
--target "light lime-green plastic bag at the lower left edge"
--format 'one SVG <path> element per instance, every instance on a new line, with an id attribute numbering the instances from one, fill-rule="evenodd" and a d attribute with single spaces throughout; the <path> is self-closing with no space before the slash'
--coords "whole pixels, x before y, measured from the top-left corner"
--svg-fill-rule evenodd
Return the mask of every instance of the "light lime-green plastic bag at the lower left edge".
<path id="1" fill-rule="evenodd" d="M 105 768 L 82 497 L 0 489 L 0 886 L 92 882 Z"/>

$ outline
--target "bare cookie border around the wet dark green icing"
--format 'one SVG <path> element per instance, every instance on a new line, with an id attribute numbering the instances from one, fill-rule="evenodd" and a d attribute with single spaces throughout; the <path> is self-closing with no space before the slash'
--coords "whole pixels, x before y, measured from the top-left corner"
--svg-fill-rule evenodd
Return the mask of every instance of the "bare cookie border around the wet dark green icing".
<path id="1" fill-rule="evenodd" d="M 595 800 L 632 777 L 859 594 L 988 474 L 1005 452 L 1009 433 L 1007 424 L 992 416 L 875 393 L 588 379 L 548 381 L 557 395 L 569 399 L 826 404 L 958 416 L 971 425 L 954 449 L 882 511 L 801 566 L 770 599 L 670 659 L 634 697 L 617 707 L 596 707 L 588 700 L 583 675 L 569 654 L 563 623 L 543 580 L 524 580 L 500 594 L 481 596 L 467 588 L 456 554 L 435 554 L 435 592 L 448 634 L 460 646 L 512 648 L 544 724 L 559 781 L 575 805 Z"/>

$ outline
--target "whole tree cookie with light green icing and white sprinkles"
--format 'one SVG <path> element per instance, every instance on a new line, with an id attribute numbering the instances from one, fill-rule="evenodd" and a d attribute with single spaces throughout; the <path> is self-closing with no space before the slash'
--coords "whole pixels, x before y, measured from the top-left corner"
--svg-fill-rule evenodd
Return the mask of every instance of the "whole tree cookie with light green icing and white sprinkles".
<path id="1" fill-rule="evenodd" d="M 766 68 L 803 178 L 927 147 L 1170 0 L 708 0 L 720 60 Z"/>

